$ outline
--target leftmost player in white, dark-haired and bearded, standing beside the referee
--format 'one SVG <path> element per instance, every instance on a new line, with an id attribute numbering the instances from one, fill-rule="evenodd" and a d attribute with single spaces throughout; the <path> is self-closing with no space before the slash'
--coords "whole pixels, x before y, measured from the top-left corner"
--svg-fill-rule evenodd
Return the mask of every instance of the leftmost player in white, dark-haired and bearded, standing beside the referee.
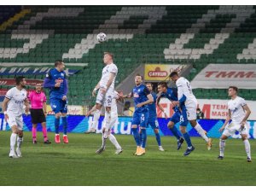
<path id="1" fill-rule="evenodd" d="M 9 124 L 12 134 L 10 137 L 9 157 L 21 157 L 20 146 L 23 142 L 23 105 L 26 105 L 25 112 L 29 111 L 29 104 L 26 99 L 26 80 L 23 76 L 16 77 L 16 86 L 7 91 L 3 100 L 4 119 Z M 18 137 L 17 137 L 18 135 Z M 17 139 L 17 148 L 15 152 L 15 144 Z"/>

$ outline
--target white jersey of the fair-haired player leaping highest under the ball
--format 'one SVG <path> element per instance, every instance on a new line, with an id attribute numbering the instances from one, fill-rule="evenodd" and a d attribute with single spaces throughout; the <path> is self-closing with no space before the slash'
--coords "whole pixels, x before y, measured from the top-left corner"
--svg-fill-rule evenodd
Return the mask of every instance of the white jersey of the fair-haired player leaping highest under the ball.
<path id="1" fill-rule="evenodd" d="M 116 67 L 115 64 L 111 63 L 109 65 L 106 65 L 103 69 L 102 69 L 102 79 L 100 80 L 100 86 L 101 87 L 105 87 L 108 83 L 108 80 L 110 78 L 110 73 L 114 73 L 114 78 L 113 78 L 113 82 L 110 85 L 109 88 L 114 89 L 114 80 L 115 77 L 118 73 L 118 68 Z"/>

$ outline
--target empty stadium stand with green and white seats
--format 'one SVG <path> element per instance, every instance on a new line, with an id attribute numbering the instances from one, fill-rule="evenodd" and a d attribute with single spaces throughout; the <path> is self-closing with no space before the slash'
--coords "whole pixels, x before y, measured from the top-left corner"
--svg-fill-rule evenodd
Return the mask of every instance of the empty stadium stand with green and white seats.
<path id="1" fill-rule="evenodd" d="M 119 84 L 144 63 L 184 63 L 195 75 L 209 63 L 255 63 L 255 6 L 0 6 L 0 63 L 88 63 L 69 77 L 70 104 L 93 101 L 102 54 L 113 52 Z M 108 41 L 99 44 L 98 32 Z M 0 64 L 1 65 L 1 64 Z M 5 78 L 14 78 L 7 76 Z M 28 76 L 44 79 L 43 75 Z M 1 90 L 9 86 L 1 85 Z M 195 89 L 225 99 L 226 90 Z M 254 90 L 241 96 L 255 100 Z"/>

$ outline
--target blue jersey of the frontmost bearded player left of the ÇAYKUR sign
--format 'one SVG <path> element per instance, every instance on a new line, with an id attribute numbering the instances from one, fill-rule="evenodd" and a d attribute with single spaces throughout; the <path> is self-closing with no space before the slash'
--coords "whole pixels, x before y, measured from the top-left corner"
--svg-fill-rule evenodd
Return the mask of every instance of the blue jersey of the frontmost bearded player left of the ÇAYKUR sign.
<path id="1" fill-rule="evenodd" d="M 137 112 L 143 112 L 145 110 L 148 110 L 148 105 L 143 105 L 141 108 L 137 108 L 137 104 L 148 101 L 148 95 L 150 94 L 148 88 L 144 84 L 140 84 L 138 86 L 135 86 L 131 90 L 131 94 L 133 96 L 133 101 L 135 105 L 135 111 Z"/>

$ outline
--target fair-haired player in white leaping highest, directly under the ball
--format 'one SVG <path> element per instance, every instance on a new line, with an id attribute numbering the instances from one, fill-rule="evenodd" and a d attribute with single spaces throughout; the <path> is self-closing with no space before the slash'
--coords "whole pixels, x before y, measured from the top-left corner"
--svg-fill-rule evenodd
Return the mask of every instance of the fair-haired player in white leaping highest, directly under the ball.
<path id="1" fill-rule="evenodd" d="M 106 65 L 102 69 L 102 79 L 96 84 L 95 89 L 92 91 L 92 96 L 96 96 L 96 111 L 94 113 L 94 129 L 96 129 L 96 121 L 100 118 L 101 108 L 105 107 L 105 129 L 102 130 L 104 139 L 108 138 L 108 131 L 110 130 L 111 122 L 111 105 L 114 91 L 114 80 L 118 73 L 118 68 L 113 64 L 113 54 L 109 52 L 104 53 L 103 62 Z M 103 148 L 102 148 L 103 149 Z"/>

